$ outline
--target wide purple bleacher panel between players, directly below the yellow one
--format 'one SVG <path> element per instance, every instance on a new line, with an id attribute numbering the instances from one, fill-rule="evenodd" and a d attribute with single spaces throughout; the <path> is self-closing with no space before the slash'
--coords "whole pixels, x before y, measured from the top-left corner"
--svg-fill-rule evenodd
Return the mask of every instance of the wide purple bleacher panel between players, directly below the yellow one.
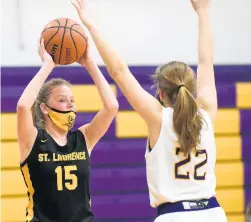
<path id="1" fill-rule="evenodd" d="M 92 165 L 123 165 L 145 163 L 146 139 L 104 140 L 91 154 Z"/>

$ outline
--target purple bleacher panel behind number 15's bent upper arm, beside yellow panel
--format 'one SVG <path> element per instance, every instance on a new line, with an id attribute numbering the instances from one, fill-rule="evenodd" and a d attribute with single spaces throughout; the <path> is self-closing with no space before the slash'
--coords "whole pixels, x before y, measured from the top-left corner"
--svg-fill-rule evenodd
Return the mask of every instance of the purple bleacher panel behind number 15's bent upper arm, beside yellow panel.
<path id="1" fill-rule="evenodd" d="M 80 126 L 84 124 L 91 122 L 91 120 L 94 118 L 95 115 L 96 113 L 77 113 L 73 130 L 79 128 Z M 113 122 L 111 123 L 104 137 L 107 137 L 107 138 L 115 137 L 115 120 L 113 120 Z"/>

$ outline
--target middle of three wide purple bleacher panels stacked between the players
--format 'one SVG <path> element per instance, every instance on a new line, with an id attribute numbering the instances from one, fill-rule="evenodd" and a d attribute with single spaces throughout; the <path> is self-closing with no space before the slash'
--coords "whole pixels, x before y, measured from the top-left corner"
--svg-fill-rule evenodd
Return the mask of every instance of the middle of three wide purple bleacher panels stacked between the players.
<path id="1" fill-rule="evenodd" d="M 92 168 L 91 189 L 93 195 L 147 192 L 145 166 L 110 169 Z"/>

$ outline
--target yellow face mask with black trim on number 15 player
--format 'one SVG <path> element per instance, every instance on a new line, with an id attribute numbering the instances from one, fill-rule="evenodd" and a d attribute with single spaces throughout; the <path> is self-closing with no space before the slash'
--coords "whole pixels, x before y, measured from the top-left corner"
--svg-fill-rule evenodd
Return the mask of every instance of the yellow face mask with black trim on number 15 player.
<path id="1" fill-rule="evenodd" d="M 50 108 L 48 116 L 58 128 L 67 132 L 73 127 L 75 119 L 76 119 L 76 112 L 72 110 L 60 111 L 60 110 L 51 108 L 50 106 L 48 107 Z"/>

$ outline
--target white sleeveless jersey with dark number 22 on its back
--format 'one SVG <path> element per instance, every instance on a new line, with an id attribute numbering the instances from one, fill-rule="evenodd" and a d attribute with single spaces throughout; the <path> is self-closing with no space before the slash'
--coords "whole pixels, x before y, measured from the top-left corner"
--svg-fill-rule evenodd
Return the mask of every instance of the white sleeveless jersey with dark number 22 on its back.
<path id="1" fill-rule="evenodd" d="M 204 110 L 201 142 L 184 155 L 173 128 L 173 109 L 163 108 L 155 147 L 146 149 L 147 182 L 152 207 L 166 202 L 207 199 L 215 195 L 216 146 L 213 125 Z M 186 127 L 184 125 L 184 127 Z"/>

